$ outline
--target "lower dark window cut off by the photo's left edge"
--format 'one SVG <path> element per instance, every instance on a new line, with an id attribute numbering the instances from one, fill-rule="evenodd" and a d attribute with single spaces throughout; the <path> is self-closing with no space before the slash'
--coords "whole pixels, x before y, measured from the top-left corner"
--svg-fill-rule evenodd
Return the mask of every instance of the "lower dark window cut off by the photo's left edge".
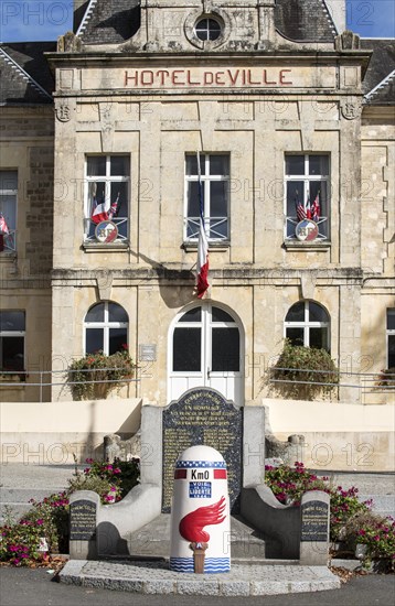
<path id="1" fill-rule="evenodd" d="M 21 311 L 0 312 L 0 370 L 24 370 L 25 316 Z"/>

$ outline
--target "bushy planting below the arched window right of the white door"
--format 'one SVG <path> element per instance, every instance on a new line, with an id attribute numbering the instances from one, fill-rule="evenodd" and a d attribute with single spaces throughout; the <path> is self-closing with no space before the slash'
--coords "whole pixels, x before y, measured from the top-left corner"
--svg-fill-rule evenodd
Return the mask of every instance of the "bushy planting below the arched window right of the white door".
<path id="1" fill-rule="evenodd" d="M 268 369 L 266 383 L 284 398 L 313 400 L 330 393 L 338 383 L 338 368 L 325 349 L 291 345 L 286 339 L 275 366 Z"/>

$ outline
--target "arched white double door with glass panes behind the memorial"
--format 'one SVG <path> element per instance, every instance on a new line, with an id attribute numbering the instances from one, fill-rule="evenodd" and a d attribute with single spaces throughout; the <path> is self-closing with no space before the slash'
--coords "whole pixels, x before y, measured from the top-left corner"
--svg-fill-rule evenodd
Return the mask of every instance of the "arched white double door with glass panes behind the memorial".
<path id="1" fill-rule="evenodd" d="M 244 403 L 243 331 L 232 315 L 204 301 L 182 312 L 170 331 L 169 402 L 194 387 L 211 387 Z"/>

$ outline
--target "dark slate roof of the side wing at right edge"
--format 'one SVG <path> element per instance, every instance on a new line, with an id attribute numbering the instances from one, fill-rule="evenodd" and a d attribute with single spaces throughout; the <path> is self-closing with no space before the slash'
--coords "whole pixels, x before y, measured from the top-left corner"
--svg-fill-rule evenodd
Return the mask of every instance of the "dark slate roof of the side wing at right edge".
<path id="1" fill-rule="evenodd" d="M 363 80 L 365 101 L 370 105 L 395 104 L 395 40 L 362 39 L 361 47 L 373 50 Z"/>

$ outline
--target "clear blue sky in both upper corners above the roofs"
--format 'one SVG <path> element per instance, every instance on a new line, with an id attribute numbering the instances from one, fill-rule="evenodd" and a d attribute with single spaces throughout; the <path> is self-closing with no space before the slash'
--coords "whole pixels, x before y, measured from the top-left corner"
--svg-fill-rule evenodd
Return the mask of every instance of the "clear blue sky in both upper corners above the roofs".
<path id="1" fill-rule="evenodd" d="M 0 41 L 56 40 L 72 29 L 73 0 L 0 0 Z M 349 29 L 364 37 L 395 36 L 395 0 L 348 0 Z"/>

